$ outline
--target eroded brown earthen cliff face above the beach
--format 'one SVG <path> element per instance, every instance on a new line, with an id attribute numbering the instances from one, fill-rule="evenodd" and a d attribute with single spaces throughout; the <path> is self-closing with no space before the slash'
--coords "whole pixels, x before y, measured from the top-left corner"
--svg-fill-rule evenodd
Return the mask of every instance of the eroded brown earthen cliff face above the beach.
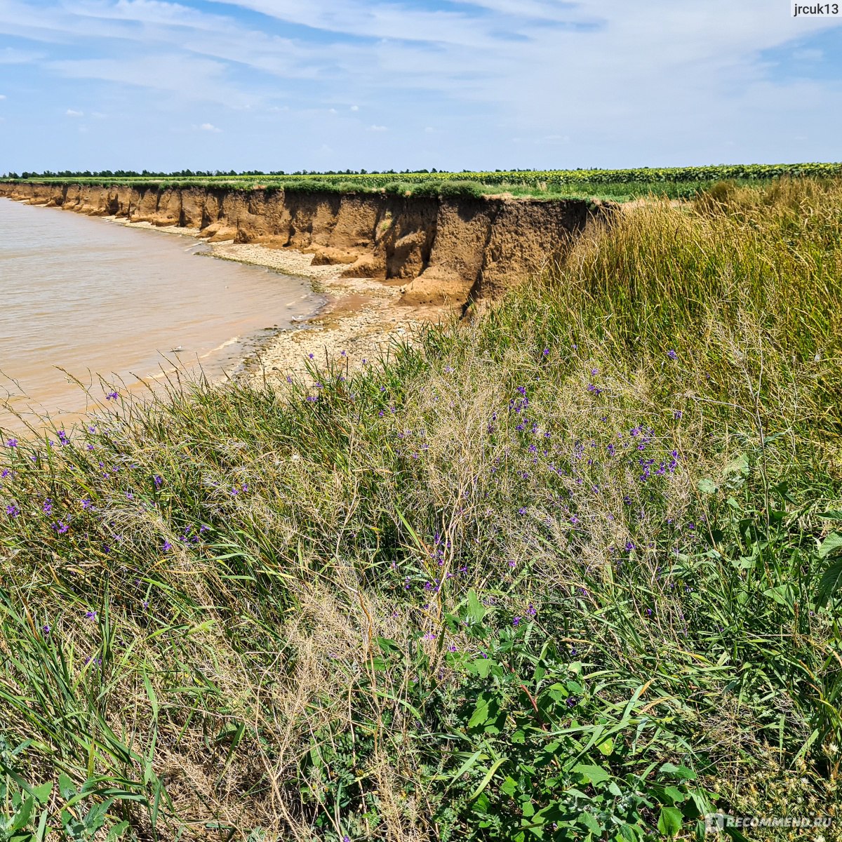
<path id="1" fill-rule="evenodd" d="M 580 200 L 437 199 L 189 187 L 2 184 L 0 195 L 91 216 L 200 229 L 211 242 L 297 248 L 353 277 L 406 285 L 407 303 L 498 296 L 561 256 L 607 211 Z"/>

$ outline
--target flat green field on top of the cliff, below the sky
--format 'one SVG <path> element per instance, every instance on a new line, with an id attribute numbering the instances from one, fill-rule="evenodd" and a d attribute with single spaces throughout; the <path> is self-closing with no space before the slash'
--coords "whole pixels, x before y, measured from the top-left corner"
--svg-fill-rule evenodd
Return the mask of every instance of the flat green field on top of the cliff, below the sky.
<path id="1" fill-rule="evenodd" d="M 339 193 L 386 191 L 402 195 L 495 195 L 632 200 L 649 195 L 691 199 L 717 181 L 743 185 L 769 184 L 773 179 L 837 178 L 840 163 L 742 164 L 714 167 L 637 169 L 508 170 L 493 173 L 22 173 L 19 180 L 60 184 L 135 184 L 183 187 L 190 185 L 254 189 L 328 191 Z M 17 178 L 11 173 L 9 178 Z"/>

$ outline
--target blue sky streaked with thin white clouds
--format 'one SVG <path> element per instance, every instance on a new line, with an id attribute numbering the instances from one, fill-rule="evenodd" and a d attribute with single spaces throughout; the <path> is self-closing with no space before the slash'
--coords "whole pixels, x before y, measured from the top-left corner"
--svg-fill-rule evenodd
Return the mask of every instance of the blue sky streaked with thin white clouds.
<path id="1" fill-rule="evenodd" d="M 839 160 L 788 0 L 0 0 L 0 173 Z"/>

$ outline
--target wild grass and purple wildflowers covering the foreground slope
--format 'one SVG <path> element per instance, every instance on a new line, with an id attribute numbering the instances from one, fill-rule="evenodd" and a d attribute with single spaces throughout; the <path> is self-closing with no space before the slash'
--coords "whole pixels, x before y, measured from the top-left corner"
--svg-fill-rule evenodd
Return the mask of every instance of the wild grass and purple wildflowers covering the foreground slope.
<path id="1" fill-rule="evenodd" d="M 840 224 L 632 208 L 376 364 L 7 446 L 8 837 L 838 839 Z"/>

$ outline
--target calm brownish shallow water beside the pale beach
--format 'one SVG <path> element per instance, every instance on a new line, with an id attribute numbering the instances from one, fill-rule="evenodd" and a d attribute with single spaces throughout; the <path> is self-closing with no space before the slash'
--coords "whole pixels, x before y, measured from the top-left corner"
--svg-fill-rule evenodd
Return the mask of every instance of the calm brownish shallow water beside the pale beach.
<path id="1" fill-rule="evenodd" d="M 261 332 L 321 303 L 306 280 L 206 250 L 192 237 L 0 199 L 0 399 L 30 420 L 61 418 L 102 400 L 98 375 L 133 389 L 173 366 L 215 379 Z M 0 426 L 21 424 L 0 408 Z"/>

